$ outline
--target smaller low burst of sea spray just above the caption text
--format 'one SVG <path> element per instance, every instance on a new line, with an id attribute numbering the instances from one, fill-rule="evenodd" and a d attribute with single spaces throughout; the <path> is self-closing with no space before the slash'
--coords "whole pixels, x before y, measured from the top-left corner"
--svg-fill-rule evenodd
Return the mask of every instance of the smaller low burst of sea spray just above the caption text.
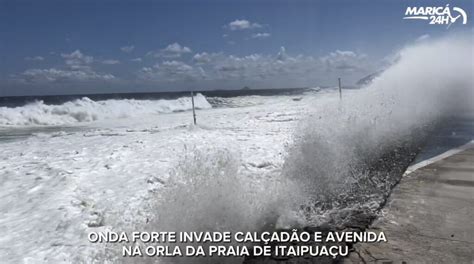
<path id="1" fill-rule="evenodd" d="M 255 182 L 241 173 L 238 150 L 192 147 L 171 171 L 166 187 L 156 193 L 153 217 L 144 229 L 176 232 L 239 232 L 274 228 L 288 211 L 291 185 L 274 179 Z M 283 188 L 284 187 L 284 188 Z M 293 190 L 294 191 L 294 190 Z M 282 192 L 285 192 L 282 193 Z M 283 199 L 282 199 L 283 198 Z M 291 204 L 292 206 L 292 204 Z M 195 245 L 196 243 L 182 243 Z M 227 245 L 228 244 L 222 244 Z M 200 244 L 205 248 L 209 244 Z M 235 246 L 238 246 L 237 244 Z M 177 258 L 173 263 L 241 263 L 242 258 Z M 143 259 L 152 263 L 152 259 Z"/>

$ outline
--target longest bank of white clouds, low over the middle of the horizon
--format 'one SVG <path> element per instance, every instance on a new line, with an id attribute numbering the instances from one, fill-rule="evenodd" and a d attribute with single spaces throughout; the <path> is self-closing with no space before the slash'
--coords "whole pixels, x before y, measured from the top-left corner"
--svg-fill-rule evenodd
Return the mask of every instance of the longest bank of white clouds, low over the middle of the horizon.
<path id="1" fill-rule="evenodd" d="M 235 84 L 257 83 L 259 87 L 295 87 L 333 83 L 339 76 L 344 76 L 348 82 L 356 81 L 374 70 L 364 54 L 353 51 L 336 50 L 315 58 L 289 55 L 285 47 L 274 55 L 235 56 L 202 52 L 196 53 L 192 62 L 168 61 L 160 64 L 159 70 L 150 68 L 151 75 L 155 80 L 187 78 Z"/>

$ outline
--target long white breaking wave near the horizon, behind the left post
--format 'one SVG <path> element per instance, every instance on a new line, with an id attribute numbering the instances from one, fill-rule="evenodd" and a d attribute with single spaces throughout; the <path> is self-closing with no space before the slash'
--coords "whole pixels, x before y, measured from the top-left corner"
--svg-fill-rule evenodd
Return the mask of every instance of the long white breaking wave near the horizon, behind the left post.
<path id="1" fill-rule="evenodd" d="M 196 109 L 212 108 L 202 94 L 194 97 Z M 191 98 L 174 100 L 110 99 L 93 101 L 87 97 L 60 105 L 36 101 L 20 107 L 0 107 L 0 126 L 71 125 L 104 119 L 172 113 L 192 109 Z"/>

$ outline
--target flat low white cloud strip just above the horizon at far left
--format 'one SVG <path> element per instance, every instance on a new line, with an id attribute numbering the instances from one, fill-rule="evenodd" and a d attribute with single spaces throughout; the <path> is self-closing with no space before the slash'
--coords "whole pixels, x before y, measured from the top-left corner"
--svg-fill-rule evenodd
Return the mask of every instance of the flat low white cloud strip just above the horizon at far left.
<path id="1" fill-rule="evenodd" d="M 29 69 L 20 74 L 26 82 L 56 82 L 56 81 L 108 81 L 115 79 L 112 74 L 99 74 L 94 71 L 61 70 L 61 69 Z"/>

